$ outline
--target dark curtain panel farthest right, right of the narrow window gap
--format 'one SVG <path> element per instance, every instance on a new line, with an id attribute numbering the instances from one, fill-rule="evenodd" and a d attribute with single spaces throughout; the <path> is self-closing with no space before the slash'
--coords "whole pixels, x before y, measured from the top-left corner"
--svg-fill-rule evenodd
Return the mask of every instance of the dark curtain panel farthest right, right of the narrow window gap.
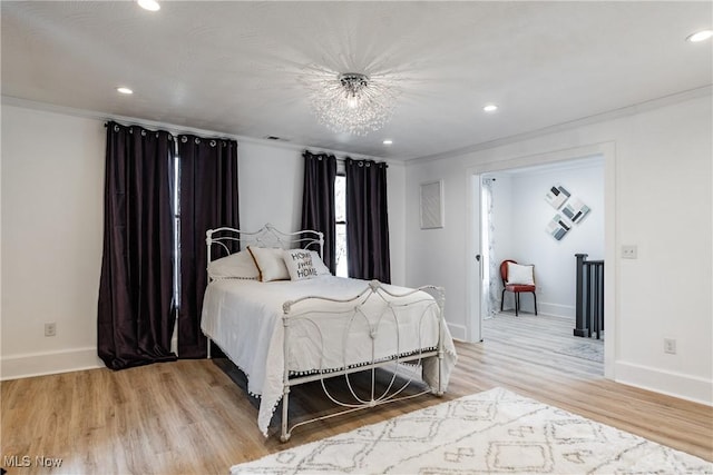
<path id="1" fill-rule="evenodd" d="M 345 159 L 349 276 L 391 281 L 384 162 Z"/>

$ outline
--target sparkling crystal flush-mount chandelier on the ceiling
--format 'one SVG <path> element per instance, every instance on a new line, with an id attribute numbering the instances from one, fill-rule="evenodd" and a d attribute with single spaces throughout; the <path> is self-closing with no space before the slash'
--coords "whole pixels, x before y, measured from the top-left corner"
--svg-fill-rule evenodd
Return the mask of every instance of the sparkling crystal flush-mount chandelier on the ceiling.
<path id="1" fill-rule="evenodd" d="M 399 90 L 385 76 L 311 68 L 303 76 L 318 120 L 335 132 L 365 136 L 393 115 Z"/>

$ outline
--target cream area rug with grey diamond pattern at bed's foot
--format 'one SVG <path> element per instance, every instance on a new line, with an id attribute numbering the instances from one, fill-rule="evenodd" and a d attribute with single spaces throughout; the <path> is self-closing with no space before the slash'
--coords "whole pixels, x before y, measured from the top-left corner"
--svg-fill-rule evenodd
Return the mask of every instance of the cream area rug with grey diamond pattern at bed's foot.
<path id="1" fill-rule="evenodd" d="M 235 465 L 236 474 L 711 474 L 713 464 L 495 388 Z"/>

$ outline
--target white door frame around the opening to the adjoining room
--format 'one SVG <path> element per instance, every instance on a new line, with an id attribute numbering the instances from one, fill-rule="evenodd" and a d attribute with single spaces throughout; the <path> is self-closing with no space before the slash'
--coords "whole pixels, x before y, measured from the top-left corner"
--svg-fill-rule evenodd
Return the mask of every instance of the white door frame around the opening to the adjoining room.
<path id="1" fill-rule="evenodd" d="M 472 206 L 472 180 L 480 180 L 482 175 L 506 171 L 515 168 L 533 167 L 583 159 L 587 157 L 604 157 L 604 259 L 609 263 L 604 266 L 604 328 L 606 338 L 604 339 L 604 377 L 614 379 L 614 363 L 618 354 L 617 345 L 617 311 L 619 308 L 618 295 L 616 293 L 616 281 L 619 275 L 619 263 L 616 259 L 616 147 L 613 141 L 595 144 L 590 146 L 574 147 L 567 149 L 551 150 L 543 154 L 516 156 L 501 161 L 479 164 L 466 168 L 466 180 L 468 189 L 468 204 L 466 206 L 466 261 L 469 263 L 466 273 L 466 288 L 478 288 L 481 294 L 480 273 L 473 264 L 475 256 L 482 254 L 480 246 L 481 210 L 473 209 Z M 478 189 L 480 189 L 478 187 Z M 479 200 L 478 200 L 479 202 Z M 477 234 L 477 235 L 476 235 Z M 466 293 L 469 315 L 466 318 L 468 338 L 470 342 L 482 340 L 482 306 L 476 306 L 476 299 L 471 293 Z M 477 299 L 480 303 L 480 298 Z"/>

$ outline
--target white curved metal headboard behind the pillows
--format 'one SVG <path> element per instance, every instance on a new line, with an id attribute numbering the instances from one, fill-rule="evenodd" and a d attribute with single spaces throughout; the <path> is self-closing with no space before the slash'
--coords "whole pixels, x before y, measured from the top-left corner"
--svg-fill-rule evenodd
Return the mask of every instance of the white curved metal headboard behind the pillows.
<path id="1" fill-rule="evenodd" d="M 213 245 L 217 245 L 226 255 L 231 254 L 231 246 L 228 246 L 231 243 L 237 243 L 241 249 L 245 249 L 247 246 L 312 249 L 319 251 L 320 256 L 323 256 L 324 250 L 324 235 L 322 232 L 314 230 L 284 232 L 268 222 L 253 232 L 235 228 L 208 229 L 205 232 L 208 263 L 213 260 L 211 255 Z"/>

